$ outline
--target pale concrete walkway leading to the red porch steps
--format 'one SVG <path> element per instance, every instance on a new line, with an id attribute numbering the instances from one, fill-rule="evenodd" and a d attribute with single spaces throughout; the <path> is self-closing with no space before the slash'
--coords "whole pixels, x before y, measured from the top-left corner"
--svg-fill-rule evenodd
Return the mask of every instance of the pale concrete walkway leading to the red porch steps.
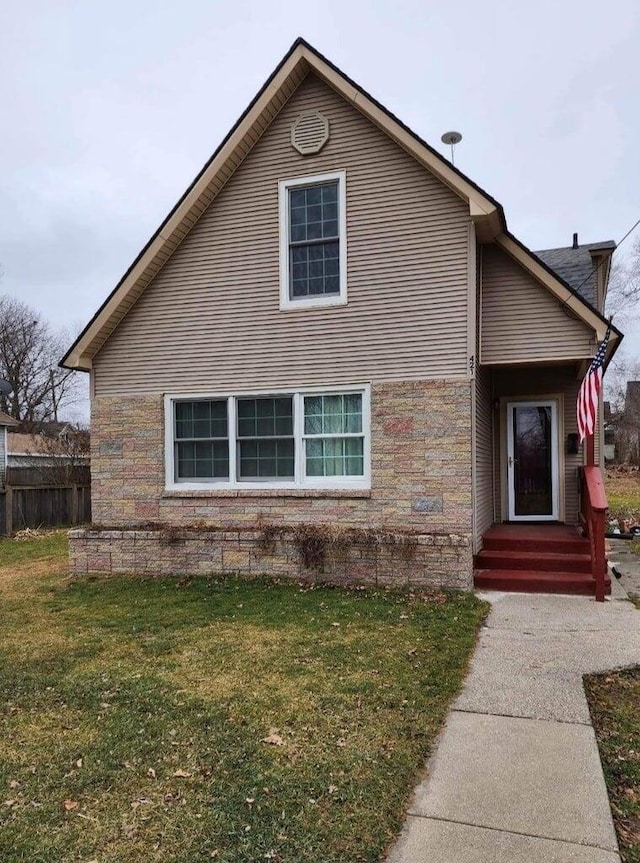
<path id="1" fill-rule="evenodd" d="M 619 863 L 582 675 L 640 662 L 640 612 L 482 595 L 470 675 L 388 863 Z"/>

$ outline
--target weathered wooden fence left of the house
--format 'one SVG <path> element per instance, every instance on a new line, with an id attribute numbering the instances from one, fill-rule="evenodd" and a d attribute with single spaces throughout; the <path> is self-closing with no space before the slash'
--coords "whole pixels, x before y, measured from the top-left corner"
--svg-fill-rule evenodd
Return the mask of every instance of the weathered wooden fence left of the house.
<path id="1" fill-rule="evenodd" d="M 91 486 L 11 486 L 0 494 L 0 533 L 91 521 Z"/>

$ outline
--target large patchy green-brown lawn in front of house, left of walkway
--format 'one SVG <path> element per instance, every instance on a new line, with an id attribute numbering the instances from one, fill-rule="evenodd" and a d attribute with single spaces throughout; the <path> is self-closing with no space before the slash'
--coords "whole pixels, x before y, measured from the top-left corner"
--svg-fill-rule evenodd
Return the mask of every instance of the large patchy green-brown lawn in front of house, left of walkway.
<path id="1" fill-rule="evenodd" d="M 377 861 L 486 607 L 0 543 L 3 863 Z"/>

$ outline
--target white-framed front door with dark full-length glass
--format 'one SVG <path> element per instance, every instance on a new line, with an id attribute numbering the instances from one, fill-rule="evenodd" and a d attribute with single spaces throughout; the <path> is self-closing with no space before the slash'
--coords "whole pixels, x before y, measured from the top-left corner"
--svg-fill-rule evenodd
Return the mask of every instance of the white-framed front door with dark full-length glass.
<path id="1" fill-rule="evenodd" d="M 557 402 L 509 402 L 509 521 L 557 521 L 558 474 Z"/>

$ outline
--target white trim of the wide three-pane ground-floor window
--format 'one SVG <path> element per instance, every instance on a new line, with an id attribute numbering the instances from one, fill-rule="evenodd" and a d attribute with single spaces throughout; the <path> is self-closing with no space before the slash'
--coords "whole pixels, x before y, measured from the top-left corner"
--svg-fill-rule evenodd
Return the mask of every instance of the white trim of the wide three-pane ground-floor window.
<path id="1" fill-rule="evenodd" d="M 304 416 L 303 398 L 307 395 L 340 395 L 342 393 L 359 393 L 362 395 L 362 432 L 364 476 L 359 477 L 306 477 L 304 460 Z M 229 476 L 236 476 L 236 399 L 263 398 L 265 396 L 290 395 L 293 397 L 293 436 L 295 440 L 295 479 L 293 481 L 239 482 L 236 479 L 215 480 L 206 482 L 176 482 L 174 460 L 174 403 L 176 401 L 198 401 L 204 399 L 226 399 L 228 404 L 229 423 Z M 330 437 L 331 435 L 325 435 Z M 322 437 L 321 435 L 319 437 Z M 360 435 L 345 434 L 336 437 L 360 437 Z M 349 491 L 350 489 L 371 488 L 371 386 L 370 384 L 353 384 L 352 386 L 323 386 L 296 389 L 247 390 L 245 392 L 224 391 L 215 393 L 170 393 L 164 396 L 164 469 L 165 491 L 215 491 L 243 489 L 327 489 L 334 491 Z"/>

